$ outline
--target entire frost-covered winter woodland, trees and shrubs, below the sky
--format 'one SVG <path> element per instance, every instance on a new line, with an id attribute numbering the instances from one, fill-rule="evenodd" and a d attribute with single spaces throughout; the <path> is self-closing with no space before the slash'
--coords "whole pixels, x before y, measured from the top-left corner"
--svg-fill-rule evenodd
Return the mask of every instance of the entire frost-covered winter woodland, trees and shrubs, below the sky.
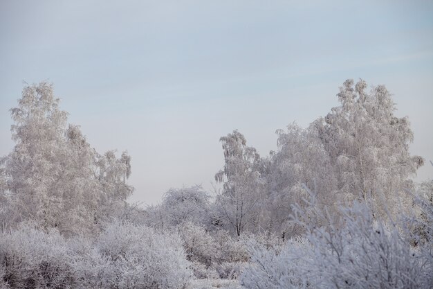
<path id="1" fill-rule="evenodd" d="M 432 288 L 433 181 L 412 179 L 433 164 L 385 86 L 335 93 L 269 155 L 221 136 L 221 189 L 140 207 L 133 155 L 96 151 L 52 84 L 26 85 L 0 159 L 0 288 Z"/>

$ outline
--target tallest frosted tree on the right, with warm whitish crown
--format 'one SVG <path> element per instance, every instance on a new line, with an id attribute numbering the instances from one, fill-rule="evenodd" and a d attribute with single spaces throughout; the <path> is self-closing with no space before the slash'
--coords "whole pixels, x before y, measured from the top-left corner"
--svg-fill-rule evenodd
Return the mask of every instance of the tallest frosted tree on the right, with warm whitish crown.
<path id="1" fill-rule="evenodd" d="M 383 85 L 367 92 L 365 81 L 353 87 L 353 80 L 346 80 L 338 99 L 339 107 L 313 123 L 331 159 L 338 190 L 351 200 L 373 198 L 382 213 L 385 205 L 394 211 L 401 200 L 409 206 L 403 191 L 413 189 L 406 181 L 423 159 L 409 153 L 413 133 L 407 117 L 394 116 L 395 104 Z"/>

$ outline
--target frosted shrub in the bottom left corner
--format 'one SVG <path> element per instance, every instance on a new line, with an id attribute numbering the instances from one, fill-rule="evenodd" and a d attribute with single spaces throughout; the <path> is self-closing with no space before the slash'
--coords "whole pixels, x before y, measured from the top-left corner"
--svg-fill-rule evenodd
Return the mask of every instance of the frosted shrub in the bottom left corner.
<path id="1" fill-rule="evenodd" d="M 57 230 L 47 233 L 23 224 L 0 235 L 0 283 L 4 288 L 73 288 L 72 255 Z"/>

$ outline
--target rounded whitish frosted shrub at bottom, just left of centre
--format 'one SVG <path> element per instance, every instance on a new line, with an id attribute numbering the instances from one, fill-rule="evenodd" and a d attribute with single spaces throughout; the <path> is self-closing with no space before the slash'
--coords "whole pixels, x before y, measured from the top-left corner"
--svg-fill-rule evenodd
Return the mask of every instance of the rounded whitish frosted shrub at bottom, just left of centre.
<path id="1" fill-rule="evenodd" d="M 129 223 L 109 225 L 83 262 L 88 287 L 184 288 L 191 275 L 177 234 Z"/>

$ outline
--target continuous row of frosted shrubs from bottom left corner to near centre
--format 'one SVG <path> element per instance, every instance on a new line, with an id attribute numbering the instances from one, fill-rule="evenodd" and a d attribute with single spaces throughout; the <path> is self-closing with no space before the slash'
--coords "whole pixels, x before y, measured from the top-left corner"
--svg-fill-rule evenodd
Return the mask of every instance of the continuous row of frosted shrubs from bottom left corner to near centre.
<path id="1" fill-rule="evenodd" d="M 3 288 L 184 288 L 192 271 L 179 236 L 114 222 L 96 240 L 31 225 L 0 236 Z"/>

